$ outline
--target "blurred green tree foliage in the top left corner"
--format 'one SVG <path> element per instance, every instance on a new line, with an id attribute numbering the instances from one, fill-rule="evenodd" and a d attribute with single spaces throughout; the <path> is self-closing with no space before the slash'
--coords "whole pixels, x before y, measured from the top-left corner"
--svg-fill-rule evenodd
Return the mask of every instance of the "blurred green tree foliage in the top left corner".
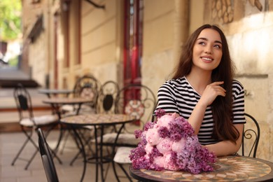
<path id="1" fill-rule="evenodd" d="M 9 41 L 18 38 L 21 33 L 20 0 L 0 0 L 0 40 Z"/>

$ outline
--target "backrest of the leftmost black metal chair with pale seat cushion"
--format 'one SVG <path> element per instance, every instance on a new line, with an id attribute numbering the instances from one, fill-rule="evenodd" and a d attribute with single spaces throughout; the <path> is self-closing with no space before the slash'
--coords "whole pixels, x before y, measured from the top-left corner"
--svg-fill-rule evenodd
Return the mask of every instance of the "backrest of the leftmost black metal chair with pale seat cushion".
<path id="1" fill-rule="evenodd" d="M 22 118 L 30 118 L 33 120 L 34 114 L 31 104 L 31 96 L 27 89 L 22 84 L 18 83 L 13 90 L 13 97 L 15 99 L 20 120 L 22 120 Z"/>

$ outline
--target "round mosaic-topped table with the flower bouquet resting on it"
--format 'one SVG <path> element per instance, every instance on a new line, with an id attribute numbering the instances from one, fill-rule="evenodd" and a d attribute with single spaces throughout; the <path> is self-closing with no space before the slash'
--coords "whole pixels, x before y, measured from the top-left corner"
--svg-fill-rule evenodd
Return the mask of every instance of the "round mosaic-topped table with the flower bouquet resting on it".
<path id="1" fill-rule="evenodd" d="M 152 171 L 133 169 L 130 174 L 139 181 L 273 181 L 273 163 L 258 158 L 229 155 L 218 157 L 213 172 Z"/>

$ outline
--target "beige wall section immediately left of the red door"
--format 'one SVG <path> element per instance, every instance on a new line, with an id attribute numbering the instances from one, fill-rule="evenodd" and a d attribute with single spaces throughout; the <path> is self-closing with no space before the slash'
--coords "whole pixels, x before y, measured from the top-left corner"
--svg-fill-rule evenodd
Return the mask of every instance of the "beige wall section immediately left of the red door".
<path id="1" fill-rule="evenodd" d="M 106 9 L 94 8 L 82 2 L 81 57 L 85 71 L 94 73 L 103 83 L 120 81 L 120 62 L 123 57 L 120 27 L 121 1 L 101 1 Z M 95 17 L 95 18 L 94 18 Z"/>

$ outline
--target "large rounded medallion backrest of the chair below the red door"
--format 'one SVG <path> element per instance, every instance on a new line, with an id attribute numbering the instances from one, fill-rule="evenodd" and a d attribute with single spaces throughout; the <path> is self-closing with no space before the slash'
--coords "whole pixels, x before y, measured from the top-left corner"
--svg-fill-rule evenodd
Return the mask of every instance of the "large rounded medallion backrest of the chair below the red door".
<path id="1" fill-rule="evenodd" d="M 116 113 L 126 113 L 136 117 L 144 125 L 151 121 L 157 99 L 146 85 L 130 84 L 123 87 L 116 99 Z"/>

